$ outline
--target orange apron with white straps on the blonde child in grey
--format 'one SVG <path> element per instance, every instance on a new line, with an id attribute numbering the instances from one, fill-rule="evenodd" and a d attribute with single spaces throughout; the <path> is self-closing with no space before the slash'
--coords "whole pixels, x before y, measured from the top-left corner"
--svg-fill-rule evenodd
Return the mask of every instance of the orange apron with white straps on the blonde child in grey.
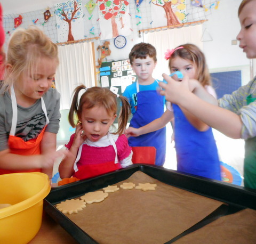
<path id="1" fill-rule="evenodd" d="M 47 111 L 45 107 L 45 103 L 43 97 L 41 97 L 41 105 L 44 115 L 46 117 L 46 124 L 42 130 L 42 132 L 35 138 L 31 139 L 27 142 L 23 141 L 20 137 L 15 136 L 15 130 L 17 126 L 17 117 L 18 117 L 18 109 L 17 109 L 17 101 L 14 93 L 13 86 L 11 87 L 11 100 L 12 100 L 12 126 L 9 135 L 9 149 L 11 153 L 19 154 L 19 155 L 36 155 L 40 154 L 40 143 L 43 139 L 44 131 L 49 124 L 49 118 L 47 117 Z M 11 163 L 11 162 L 10 162 Z M 0 169 L 0 174 L 10 174 L 10 173 L 18 173 L 18 172 L 41 172 L 41 169 L 26 169 L 26 170 L 7 170 Z"/>

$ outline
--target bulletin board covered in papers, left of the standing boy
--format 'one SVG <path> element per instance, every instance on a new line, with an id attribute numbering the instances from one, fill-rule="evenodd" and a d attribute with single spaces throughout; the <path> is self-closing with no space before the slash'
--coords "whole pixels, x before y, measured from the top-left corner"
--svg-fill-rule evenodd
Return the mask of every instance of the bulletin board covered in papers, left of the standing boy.
<path id="1" fill-rule="evenodd" d="M 129 59 L 101 63 L 101 87 L 109 88 L 110 91 L 114 92 L 115 94 L 122 95 L 125 91 L 126 86 L 131 85 L 136 80 L 137 76 L 132 70 Z M 117 105 L 117 114 L 119 114 L 119 111 L 121 109 L 121 102 L 117 102 Z M 118 122 L 117 119 L 118 118 L 115 119 L 114 123 Z"/>

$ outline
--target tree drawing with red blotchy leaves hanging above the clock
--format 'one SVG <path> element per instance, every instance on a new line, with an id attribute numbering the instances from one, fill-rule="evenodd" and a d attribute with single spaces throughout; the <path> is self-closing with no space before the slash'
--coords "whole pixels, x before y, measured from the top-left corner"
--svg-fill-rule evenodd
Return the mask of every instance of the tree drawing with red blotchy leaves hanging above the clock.
<path id="1" fill-rule="evenodd" d="M 113 38 L 117 37 L 119 34 L 116 20 L 121 22 L 121 28 L 123 28 L 123 15 L 127 10 L 129 2 L 126 0 L 98 0 L 98 5 L 101 16 L 105 20 L 111 20 Z"/>

